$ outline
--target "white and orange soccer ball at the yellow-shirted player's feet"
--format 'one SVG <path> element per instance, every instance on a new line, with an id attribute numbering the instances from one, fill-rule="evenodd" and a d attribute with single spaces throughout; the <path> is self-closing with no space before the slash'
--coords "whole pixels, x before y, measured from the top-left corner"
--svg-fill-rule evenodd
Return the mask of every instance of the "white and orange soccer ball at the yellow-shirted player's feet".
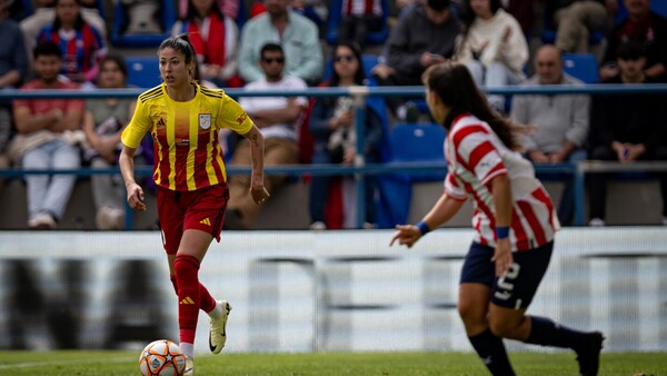
<path id="1" fill-rule="evenodd" d="M 181 376 L 186 370 L 186 356 L 169 339 L 153 340 L 141 350 L 139 370 L 143 376 Z"/>

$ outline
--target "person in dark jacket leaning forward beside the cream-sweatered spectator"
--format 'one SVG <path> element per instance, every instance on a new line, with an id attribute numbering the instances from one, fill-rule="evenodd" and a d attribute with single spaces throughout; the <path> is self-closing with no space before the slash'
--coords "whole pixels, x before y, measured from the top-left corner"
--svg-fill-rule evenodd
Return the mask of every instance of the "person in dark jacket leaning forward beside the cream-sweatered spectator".
<path id="1" fill-rule="evenodd" d="M 449 0 L 415 4 L 394 26 L 385 47 L 387 61 L 374 67 L 374 77 L 381 86 L 420 86 L 428 67 L 451 57 L 459 31 Z M 387 97 L 387 105 L 395 117 L 406 119 L 401 98 Z"/>

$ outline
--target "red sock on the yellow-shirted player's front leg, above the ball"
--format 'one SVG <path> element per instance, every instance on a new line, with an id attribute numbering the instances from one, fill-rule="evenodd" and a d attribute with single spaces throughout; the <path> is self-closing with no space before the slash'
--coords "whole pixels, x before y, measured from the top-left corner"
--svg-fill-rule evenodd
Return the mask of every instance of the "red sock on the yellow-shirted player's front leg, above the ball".
<path id="1" fill-rule="evenodd" d="M 178 284 L 178 326 L 181 343 L 195 343 L 199 316 L 199 260 L 192 256 L 177 256 L 173 263 Z"/>

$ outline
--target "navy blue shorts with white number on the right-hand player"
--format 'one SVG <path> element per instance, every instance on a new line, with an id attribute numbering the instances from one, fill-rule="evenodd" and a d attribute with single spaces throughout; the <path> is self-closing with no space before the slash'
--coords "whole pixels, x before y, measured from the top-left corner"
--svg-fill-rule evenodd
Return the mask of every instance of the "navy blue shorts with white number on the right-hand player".
<path id="1" fill-rule="evenodd" d="M 520 309 L 532 301 L 554 250 L 554 241 L 530 250 L 512 253 L 514 264 L 501 278 L 496 277 L 496 263 L 491 261 L 494 248 L 472 243 L 460 283 L 482 284 L 491 287 L 491 301 L 500 307 Z"/>

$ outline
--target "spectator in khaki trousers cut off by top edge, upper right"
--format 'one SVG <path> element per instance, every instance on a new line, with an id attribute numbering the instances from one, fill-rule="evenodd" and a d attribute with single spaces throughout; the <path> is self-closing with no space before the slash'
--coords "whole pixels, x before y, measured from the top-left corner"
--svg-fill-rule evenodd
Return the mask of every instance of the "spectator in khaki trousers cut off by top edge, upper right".
<path id="1" fill-rule="evenodd" d="M 546 19 L 556 27 L 556 47 L 563 52 L 590 52 L 590 33 L 606 33 L 617 8 L 618 0 L 547 1 Z"/>

